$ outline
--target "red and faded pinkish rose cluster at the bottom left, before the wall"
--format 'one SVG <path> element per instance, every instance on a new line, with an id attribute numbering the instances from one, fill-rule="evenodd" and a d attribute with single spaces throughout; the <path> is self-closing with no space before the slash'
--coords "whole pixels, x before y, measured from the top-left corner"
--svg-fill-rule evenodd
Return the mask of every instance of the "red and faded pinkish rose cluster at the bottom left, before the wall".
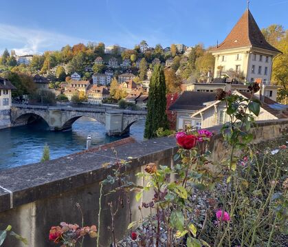
<path id="1" fill-rule="evenodd" d="M 90 237 L 97 237 L 96 226 L 80 227 L 78 224 L 67 224 L 66 222 L 61 222 L 60 226 L 51 227 L 49 231 L 49 240 L 54 241 L 56 244 L 64 244 L 68 242 L 70 244 L 69 246 L 75 246 L 77 241 L 87 234 Z"/>

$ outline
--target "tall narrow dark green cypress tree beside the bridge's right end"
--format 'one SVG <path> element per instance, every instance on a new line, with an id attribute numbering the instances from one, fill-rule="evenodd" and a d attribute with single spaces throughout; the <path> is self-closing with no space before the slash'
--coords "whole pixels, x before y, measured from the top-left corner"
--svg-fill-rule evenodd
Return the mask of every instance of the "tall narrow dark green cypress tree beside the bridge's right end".
<path id="1" fill-rule="evenodd" d="M 166 83 L 163 67 L 155 65 L 149 88 L 144 138 L 155 137 L 159 128 L 168 129 Z"/>

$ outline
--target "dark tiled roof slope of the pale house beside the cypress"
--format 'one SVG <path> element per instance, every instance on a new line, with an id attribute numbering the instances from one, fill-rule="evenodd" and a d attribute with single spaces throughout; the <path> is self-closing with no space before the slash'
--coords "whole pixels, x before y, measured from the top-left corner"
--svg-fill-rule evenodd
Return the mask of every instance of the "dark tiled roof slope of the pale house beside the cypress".
<path id="1" fill-rule="evenodd" d="M 204 107 L 204 103 L 216 100 L 215 95 L 215 93 L 208 92 L 184 92 L 177 98 L 175 103 L 169 107 L 169 110 L 197 111 Z"/>

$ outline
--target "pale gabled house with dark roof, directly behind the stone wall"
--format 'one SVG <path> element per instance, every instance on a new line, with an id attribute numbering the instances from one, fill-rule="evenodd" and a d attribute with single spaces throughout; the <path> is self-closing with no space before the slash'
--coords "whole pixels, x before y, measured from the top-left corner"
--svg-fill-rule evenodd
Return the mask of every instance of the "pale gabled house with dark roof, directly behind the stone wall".
<path id="1" fill-rule="evenodd" d="M 247 92 L 234 91 L 234 94 L 250 98 Z M 177 130 L 192 127 L 203 129 L 228 122 L 225 103 L 216 100 L 213 92 L 184 92 L 170 106 L 170 110 L 177 112 Z M 256 96 L 255 96 L 256 98 Z M 261 97 L 262 105 L 256 120 L 273 120 L 288 118 L 287 106 L 280 105 L 267 97 Z"/>

